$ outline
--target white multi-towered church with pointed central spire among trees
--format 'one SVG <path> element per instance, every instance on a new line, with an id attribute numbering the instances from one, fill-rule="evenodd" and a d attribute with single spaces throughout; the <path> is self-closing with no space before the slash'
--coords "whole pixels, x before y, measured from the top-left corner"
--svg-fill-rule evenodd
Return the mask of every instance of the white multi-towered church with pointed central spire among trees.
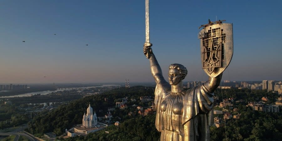
<path id="1" fill-rule="evenodd" d="M 83 118 L 82 118 L 82 127 L 92 128 L 92 127 L 95 127 L 97 124 L 98 124 L 97 115 L 95 112 L 93 114 L 93 109 L 89 103 L 89 107 L 87 108 L 87 113 L 86 115 L 84 113 Z"/>

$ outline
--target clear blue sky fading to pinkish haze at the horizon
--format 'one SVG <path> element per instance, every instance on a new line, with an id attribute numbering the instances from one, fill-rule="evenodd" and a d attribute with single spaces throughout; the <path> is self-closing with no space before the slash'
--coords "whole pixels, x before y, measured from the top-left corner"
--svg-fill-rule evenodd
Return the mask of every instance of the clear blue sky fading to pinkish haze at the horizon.
<path id="1" fill-rule="evenodd" d="M 178 63 L 184 81 L 208 79 L 198 27 L 220 19 L 233 23 L 234 40 L 222 80 L 282 80 L 281 6 L 150 0 L 150 42 L 164 77 Z M 0 83 L 154 82 L 143 54 L 145 0 L 2 0 L 0 13 Z"/>

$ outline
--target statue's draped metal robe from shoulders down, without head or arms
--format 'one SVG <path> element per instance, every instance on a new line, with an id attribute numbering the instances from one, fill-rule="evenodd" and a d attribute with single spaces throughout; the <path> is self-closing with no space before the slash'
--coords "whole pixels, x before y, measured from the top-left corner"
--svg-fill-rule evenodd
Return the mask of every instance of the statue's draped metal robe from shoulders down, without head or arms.
<path id="1" fill-rule="evenodd" d="M 154 103 L 157 107 L 155 126 L 161 141 L 210 140 L 213 93 L 203 85 L 175 96 L 169 84 L 157 85 Z M 180 107 L 180 110 L 176 110 Z"/>

